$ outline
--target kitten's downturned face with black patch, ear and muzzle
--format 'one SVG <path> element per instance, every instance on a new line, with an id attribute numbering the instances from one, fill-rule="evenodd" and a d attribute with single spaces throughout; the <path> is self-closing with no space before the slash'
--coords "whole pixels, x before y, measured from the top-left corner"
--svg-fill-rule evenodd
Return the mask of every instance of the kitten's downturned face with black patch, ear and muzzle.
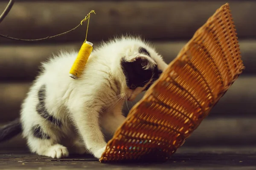
<path id="1" fill-rule="evenodd" d="M 138 47 L 137 54 L 133 57 L 122 57 L 120 61 L 126 82 L 121 91 L 130 101 L 142 91 L 146 91 L 162 73 L 150 56 L 145 47 Z"/>

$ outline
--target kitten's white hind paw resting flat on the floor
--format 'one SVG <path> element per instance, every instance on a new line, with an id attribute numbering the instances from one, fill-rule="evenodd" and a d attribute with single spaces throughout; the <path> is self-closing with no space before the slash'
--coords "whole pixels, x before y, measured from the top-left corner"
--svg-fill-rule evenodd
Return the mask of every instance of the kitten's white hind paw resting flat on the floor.
<path id="1" fill-rule="evenodd" d="M 64 158 L 68 156 L 67 147 L 64 147 L 60 144 L 55 144 L 49 148 L 47 152 L 47 156 L 52 158 Z"/>

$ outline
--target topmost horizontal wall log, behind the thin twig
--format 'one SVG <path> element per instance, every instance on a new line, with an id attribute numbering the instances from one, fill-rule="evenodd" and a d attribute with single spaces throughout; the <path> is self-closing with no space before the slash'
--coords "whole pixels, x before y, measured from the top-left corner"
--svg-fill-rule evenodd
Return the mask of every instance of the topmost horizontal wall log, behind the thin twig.
<path id="1" fill-rule="evenodd" d="M 0 33 L 24 39 L 36 39 L 70 30 L 91 10 L 88 39 L 106 40 L 126 32 L 148 39 L 190 39 L 224 0 L 207 1 L 17 1 L 1 23 Z M 0 2 L 0 11 L 5 7 Z M 232 1 L 230 7 L 239 38 L 256 37 L 255 1 Z M 84 40 L 86 24 L 63 37 L 44 42 Z M 1 43 L 15 43 L 0 39 Z M 33 42 L 34 43 L 34 42 Z"/>

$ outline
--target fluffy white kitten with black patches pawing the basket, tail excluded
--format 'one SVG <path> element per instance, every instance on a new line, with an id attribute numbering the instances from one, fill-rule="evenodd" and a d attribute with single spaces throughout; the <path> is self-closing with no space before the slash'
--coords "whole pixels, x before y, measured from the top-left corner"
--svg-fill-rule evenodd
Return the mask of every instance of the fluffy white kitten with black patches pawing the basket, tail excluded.
<path id="1" fill-rule="evenodd" d="M 125 120 L 124 100 L 133 101 L 167 67 L 154 48 L 135 37 L 102 43 L 93 49 L 81 77 L 72 79 L 76 57 L 77 52 L 62 52 L 43 63 L 23 101 L 20 122 L 32 153 L 100 158 L 104 134 L 113 134 Z"/>

